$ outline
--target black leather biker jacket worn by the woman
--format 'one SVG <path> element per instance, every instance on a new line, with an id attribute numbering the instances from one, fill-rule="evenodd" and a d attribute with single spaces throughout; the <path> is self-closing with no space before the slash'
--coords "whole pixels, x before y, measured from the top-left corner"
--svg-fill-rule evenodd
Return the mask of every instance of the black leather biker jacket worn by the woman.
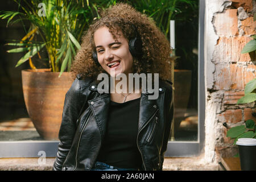
<path id="1" fill-rule="evenodd" d="M 142 170 L 162 170 L 174 100 L 170 82 L 159 80 L 159 97 L 141 94 L 137 146 Z M 90 170 L 96 163 L 106 131 L 109 93 L 98 93 L 96 81 L 77 76 L 65 96 L 59 147 L 53 170 Z"/>

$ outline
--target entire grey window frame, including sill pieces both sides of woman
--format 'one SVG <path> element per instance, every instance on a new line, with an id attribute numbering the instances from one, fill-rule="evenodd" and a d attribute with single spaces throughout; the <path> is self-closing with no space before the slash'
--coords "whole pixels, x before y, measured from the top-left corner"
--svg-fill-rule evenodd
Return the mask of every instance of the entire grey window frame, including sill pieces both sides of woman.
<path id="1" fill-rule="evenodd" d="M 205 0 L 199 0 L 199 73 L 198 73 L 198 140 L 193 142 L 174 141 L 168 142 L 166 157 L 189 157 L 200 155 L 204 148 L 205 130 L 205 80 L 204 80 L 204 15 Z M 46 157 L 56 157 L 58 140 L 23 140 L 23 141 L 1 141 L 0 158 L 36 158 L 40 156 L 39 151 L 44 151 Z"/>

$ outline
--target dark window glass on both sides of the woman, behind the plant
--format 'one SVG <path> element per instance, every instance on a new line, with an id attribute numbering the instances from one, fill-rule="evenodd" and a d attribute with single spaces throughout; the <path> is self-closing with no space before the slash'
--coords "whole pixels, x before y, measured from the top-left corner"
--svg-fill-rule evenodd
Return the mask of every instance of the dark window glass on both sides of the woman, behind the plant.
<path id="1" fill-rule="evenodd" d="M 197 141 L 199 133 L 198 122 L 198 31 L 199 2 L 190 6 L 179 7 L 183 13 L 175 16 L 175 118 L 170 141 Z M 3 3 L 1 10 L 17 10 L 11 3 Z M 36 130 L 24 102 L 22 77 L 23 69 L 30 69 L 29 62 L 15 68 L 23 53 L 7 53 L 15 48 L 5 46 L 9 40 L 20 40 L 24 36 L 24 28 L 29 28 L 27 22 L 17 23 L 6 28 L 7 20 L 0 21 L 0 141 L 39 141 L 43 138 Z M 170 35 L 168 35 L 170 40 Z M 42 57 L 47 57 L 46 49 L 40 51 Z M 44 61 L 34 58 L 37 68 L 46 68 Z M 38 97 L 40 100 L 40 97 Z M 37 101 L 38 102 L 38 101 Z M 63 100 L 64 102 L 64 100 Z M 54 104 L 53 104 L 54 105 Z M 42 113 L 39 113 L 42 114 Z M 48 117 L 46 115 L 45 117 Z M 55 125 L 52 125 L 55 126 Z M 42 126 L 46 127 L 46 126 Z M 47 130 L 51 127 L 47 126 Z M 58 129 L 55 130 L 58 132 Z M 55 153 L 54 153 L 55 154 Z"/>

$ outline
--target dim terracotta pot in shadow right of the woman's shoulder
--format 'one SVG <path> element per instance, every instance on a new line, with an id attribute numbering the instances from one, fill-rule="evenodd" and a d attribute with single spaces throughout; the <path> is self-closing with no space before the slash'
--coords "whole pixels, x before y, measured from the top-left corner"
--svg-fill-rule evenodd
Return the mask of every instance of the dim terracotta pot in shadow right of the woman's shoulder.
<path id="1" fill-rule="evenodd" d="M 180 122 L 185 118 L 191 90 L 190 70 L 174 70 L 174 130 L 177 131 Z"/>

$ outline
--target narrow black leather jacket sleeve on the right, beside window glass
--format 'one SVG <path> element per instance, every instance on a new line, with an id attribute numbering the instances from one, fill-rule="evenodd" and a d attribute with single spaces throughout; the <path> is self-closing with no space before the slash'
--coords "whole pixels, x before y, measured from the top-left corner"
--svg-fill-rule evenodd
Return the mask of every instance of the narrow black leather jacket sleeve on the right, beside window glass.
<path id="1" fill-rule="evenodd" d="M 167 89 L 166 94 L 166 123 L 164 125 L 164 137 L 163 137 L 163 146 L 161 150 L 161 169 L 163 167 L 163 160 L 164 160 L 164 152 L 167 150 L 168 140 L 171 135 L 171 125 L 172 122 L 174 122 L 174 91 L 172 90 L 172 86 L 170 85 L 170 88 Z"/>

